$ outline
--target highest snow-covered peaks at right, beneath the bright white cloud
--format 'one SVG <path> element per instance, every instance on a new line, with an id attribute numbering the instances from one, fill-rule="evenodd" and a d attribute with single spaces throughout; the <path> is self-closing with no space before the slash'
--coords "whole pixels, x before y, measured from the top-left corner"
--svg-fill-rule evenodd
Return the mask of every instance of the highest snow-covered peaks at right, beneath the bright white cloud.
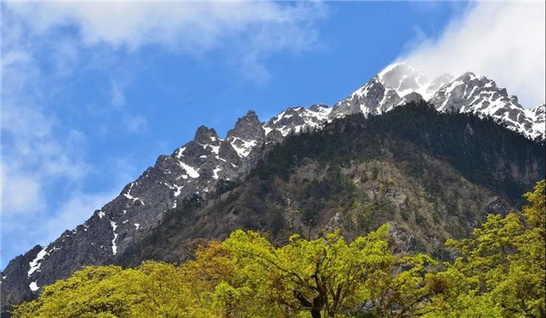
<path id="1" fill-rule="evenodd" d="M 424 99 L 440 112 L 490 116 L 531 139 L 544 139 L 544 105 L 526 110 L 518 97 L 493 80 L 467 72 L 454 78 L 440 75 L 430 81 L 405 63 L 389 65 L 371 80 L 335 104 L 330 118 L 347 114 L 381 114 L 410 101 Z"/>

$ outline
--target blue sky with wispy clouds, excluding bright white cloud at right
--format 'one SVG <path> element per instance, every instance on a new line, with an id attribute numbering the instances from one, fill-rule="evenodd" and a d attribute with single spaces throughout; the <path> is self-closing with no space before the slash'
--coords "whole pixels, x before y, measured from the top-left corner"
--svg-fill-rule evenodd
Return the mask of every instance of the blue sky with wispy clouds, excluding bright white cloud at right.
<path id="1" fill-rule="evenodd" d="M 400 56 L 444 50 L 483 5 L 2 3 L 2 268 L 81 224 L 197 126 L 224 136 L 249 109 L 265 121 L 332 105 Z"/>

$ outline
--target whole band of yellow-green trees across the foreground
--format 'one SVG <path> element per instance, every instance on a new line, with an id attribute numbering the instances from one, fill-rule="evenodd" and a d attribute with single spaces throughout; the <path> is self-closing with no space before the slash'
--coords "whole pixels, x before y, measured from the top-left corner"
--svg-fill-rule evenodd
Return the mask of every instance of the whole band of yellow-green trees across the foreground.
<path id="1" fill-rule="evenodd" d="M 275 246 L 255 232 L 209 242 L 182 265 L 86 267 L 15 317 L 545 317 L 544 181 L 521 212 L 450 240 L 452 263 L 394 255 L 383 225 Z"/>

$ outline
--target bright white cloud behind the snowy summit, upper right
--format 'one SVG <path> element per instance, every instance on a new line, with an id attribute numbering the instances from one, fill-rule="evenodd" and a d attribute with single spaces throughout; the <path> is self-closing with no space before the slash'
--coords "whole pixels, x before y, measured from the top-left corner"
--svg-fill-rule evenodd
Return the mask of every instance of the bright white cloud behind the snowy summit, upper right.
<path id="1" fill-rule="evenodd" d="M 440 38 L 420 39 L 400 56 L 430 77 L 486 75 L 527 108 L 544 103 L 544 2 L 470 4 Z"/>

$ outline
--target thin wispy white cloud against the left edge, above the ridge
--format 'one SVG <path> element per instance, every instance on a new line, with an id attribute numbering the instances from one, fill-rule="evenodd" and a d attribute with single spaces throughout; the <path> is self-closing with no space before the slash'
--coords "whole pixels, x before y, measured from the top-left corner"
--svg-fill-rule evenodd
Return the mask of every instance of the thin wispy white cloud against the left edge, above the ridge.
<path id="1" fill-rule="evenodd" d="M 5 53 L 2 64 L 2 216 L 35 214 L 47 206 L 45 187 L 74 183 L 89 167 L 81 152 L 85 135 L 55 133 L 60 123 L 46 104 L 47 81 L 28 43 Z M 9 47 L 9 45 L 8 45 Z"/>

